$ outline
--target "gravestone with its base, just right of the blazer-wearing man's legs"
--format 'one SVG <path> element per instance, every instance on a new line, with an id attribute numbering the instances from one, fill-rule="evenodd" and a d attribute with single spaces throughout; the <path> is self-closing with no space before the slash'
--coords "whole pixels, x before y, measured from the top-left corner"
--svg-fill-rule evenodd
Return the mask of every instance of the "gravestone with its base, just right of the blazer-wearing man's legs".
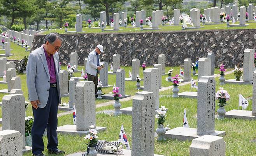
<path id="1" fill-rule="evenodd" d="M 64 125 L 57 128 L 58 133 L 85 135 L 90 125 L 96 126 L 95 84 L 93 81 L 79 81 L 75 86 L 76 125 Z M 106 130 L 96 127 L 97 131 Z"/>

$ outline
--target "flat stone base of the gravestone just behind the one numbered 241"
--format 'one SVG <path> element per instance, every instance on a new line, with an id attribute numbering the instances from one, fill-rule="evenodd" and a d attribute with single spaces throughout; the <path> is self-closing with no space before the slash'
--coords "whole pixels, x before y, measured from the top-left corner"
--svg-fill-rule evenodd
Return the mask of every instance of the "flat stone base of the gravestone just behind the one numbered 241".
<path id="1" fill-rule="evenodd" d="M 225 131 L 215 131 L 209 135 L 223 137 L 225 133 L 226 133 Z M 177 128 L 168 130 L 165 133 L 165 138 L 170 138 L 173 140 L 177 139 L 181 141 L 193 140 L 194 138 L 198 138 L 198 137 L 201 137 L 201 136 L 196 134 L 196 128 L 177 127 Z"/>

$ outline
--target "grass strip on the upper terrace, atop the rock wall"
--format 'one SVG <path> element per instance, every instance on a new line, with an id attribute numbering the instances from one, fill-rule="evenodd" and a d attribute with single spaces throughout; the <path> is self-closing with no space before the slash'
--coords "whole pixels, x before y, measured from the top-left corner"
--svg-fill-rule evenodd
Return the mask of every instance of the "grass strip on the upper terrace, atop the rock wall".
<path id="1" fill-rule="evenodd" d="M 230 22 L 230 24 L 232 24 L 232 22 Z M 239 24 L 239 21 L 236 22 L 235 24 Z M 232 29 L 255 29 L 256 28 L 256 23 L 246 23 L 249 24 L 249 26 L 245 26 L 245 27 L 231 27 L 231 28 L 227 28 L 226 23 L 222 23 L 222 24 L 218 24 L 218 25 L 202 25 L 201 26 L 203 28 L 199 28 L 199 29 L 190 29 L 190 30 L 186 30 L 186 31 L 195 31 L 195 30 L 220 30 L 220 29 L 224 29 L 224 30 L 232 30 Z M 180 23 L 181 25 L 181 23 Z M 128 25 L 131 26 L 131 25 Z M 144 28 L 149 28 L 149 26 L 143 26 Z M 152 32 L 152 31 L 161 31 L 161 32 L 168 32 L 168 31 L 180 31 L 181 30 L 181 26 L 159 26 L 159 30 L 143 30 L 140 31 L 140 28 L 124 28 L 122 26 L 120 26 L 120 30 L 119 31 L 105 31 L 104 33 L 113 33 L 113 32 Z M 110 26 L 107 26 L 105 29 L 113 29 L 110 28 Z M 68 28 L 68 31 L 75 31 L 75 28 Z M 72 33 L 100 33 L 102 32 L 102 30 L 100 28 L 82 28 L 83 32 L 72 32 Z M 49 30 L 46 32 L 43 32 L 43 34 L 49 34 L 50 32 L 57 32 L 57 33 L 65 33 L 64 29 L 56 29 L 56 30 Z"/>

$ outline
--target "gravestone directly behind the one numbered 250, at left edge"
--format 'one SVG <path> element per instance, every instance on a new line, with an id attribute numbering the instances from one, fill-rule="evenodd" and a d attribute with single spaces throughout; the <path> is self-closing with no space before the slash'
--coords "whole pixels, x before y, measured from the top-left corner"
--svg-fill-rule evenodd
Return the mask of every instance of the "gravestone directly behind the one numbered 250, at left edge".
<path id="1" fill-rule="evenodd" d="M 21 133 L 22 147 L 25 149 L 25 97 L 23 95 L 11 94 L 3 97 L 2 120 L 3 130 L 16 130 Z"/>

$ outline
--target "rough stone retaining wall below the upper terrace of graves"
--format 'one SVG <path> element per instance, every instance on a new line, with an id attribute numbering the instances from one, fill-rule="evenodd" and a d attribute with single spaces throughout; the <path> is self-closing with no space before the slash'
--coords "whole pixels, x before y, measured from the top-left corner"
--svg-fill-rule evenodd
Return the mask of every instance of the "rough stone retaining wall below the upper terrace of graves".
<path id="1" fill-rule="evenodd" d="M 35 35 L 32 50 L 43 44 L 45 35 Z M 256 30 L 198 30 L 179 32 L 142 32 L 137 33 L 74 33 L 61 34 L 64 42 L 59 51 L 60 61 L 67 64 L 70 53 L 78 54 L 78 64 L 97 44 L 102 44 L 105 53 L 101 61 L 112 62 L 115 53 L 121 55 L 121 65 L 131 66 L 133 58 L 139 58 L 140 64 L 158 63 L 158 55 L 166 55 L 167 66 L 182 65 L 185 58 L 195 62 L 215 53 L 215 65 L 224 63 L 226 67 L 242 64 L 244 49 L 256 49 Z"/>

